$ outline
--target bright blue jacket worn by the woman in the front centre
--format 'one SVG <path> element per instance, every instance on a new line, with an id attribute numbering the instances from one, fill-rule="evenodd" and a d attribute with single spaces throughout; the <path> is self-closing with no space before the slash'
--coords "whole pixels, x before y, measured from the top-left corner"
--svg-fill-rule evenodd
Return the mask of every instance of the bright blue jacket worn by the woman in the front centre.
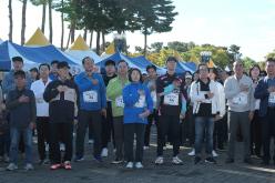
<path id="1" fill-rule="evenodd" d="M 144 91 L 144 95 L 138 93 L 139 90 Z M 147 118 L 140 118 L 139 114 L 145 110 L 153 112 L 153 100 L 147 87 L 142 83 L 130 83 L 122 91 L 124 102 L 124 124 L 144 123 L 147 124 Z M 142 98 L 145 100 L 143 101 Z M 143 103 L 144 102 L 144 103 Z"/>

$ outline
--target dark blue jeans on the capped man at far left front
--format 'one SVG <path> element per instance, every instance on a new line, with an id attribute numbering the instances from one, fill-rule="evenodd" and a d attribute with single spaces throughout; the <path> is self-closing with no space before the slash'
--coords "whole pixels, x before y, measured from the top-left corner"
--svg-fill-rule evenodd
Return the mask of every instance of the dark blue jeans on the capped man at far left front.
<path id="1" fill-rule="evenodd" d="M 24 141 L 26 163 L 32 163 L 32 130 L 30 128 L 10 129 L 10 162 L 14 164 L 18 162 L 18 144 L 20 134 L 22 134 Z"/>

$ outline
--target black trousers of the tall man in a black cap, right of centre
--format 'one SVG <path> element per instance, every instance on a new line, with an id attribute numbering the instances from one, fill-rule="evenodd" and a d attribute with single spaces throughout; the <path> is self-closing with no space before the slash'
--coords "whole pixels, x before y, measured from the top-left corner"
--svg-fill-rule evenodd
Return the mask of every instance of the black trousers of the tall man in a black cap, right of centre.
<path id="1" fill-rule="evenodd" d="M 170 141 L 173 144 L 173 156 L 180 152 L 180 114 L 179 115 L 160 115 L 159 138 L 157 138 L 157 156 L 163 155 L 163 146 L 165 138 L 170 135 Z"/>

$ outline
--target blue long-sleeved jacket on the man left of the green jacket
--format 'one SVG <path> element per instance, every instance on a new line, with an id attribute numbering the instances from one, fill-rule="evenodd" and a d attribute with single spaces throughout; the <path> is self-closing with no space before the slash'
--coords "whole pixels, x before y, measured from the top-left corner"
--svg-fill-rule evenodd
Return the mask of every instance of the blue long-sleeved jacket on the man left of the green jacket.
<path id="1" fill-rule="evenodd" d="M 81 72 L 74 78 L 74 82 L 79 87 L 81 110 L 98 111 L 106 108 L 104 81 L 98 73 L 93 73 L 92 79 L 96 79 L 99 83 L 94 85 L 85 72 Z"/>

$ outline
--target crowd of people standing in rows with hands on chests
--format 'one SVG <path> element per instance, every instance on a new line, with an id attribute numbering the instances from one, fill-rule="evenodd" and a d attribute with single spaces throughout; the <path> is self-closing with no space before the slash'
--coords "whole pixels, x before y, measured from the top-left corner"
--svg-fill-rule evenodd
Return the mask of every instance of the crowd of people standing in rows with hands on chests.
<path id="1" fill-rule="evenodd" d="M 12 58 L 13 69 L 0 88 L 1 161 L 9 163 L 8 171 L 17 170 L 19 151 L 24 152 L 24 169 L 33 170 L 37 135 L 39 164 L 71 170 L 72 160 L 84 161 L 89 129 L 95 161 L 101 163 L 112 144 L 115 157 L 111 163 L 142 169 L 155 124 L 157 165 L 164 163 L 167 144 L 173 145 L 175 165 L 183 164 L 181 145 L 193 149 L 189 155 L 194 156 L 194 164 L 216 163 L 217 151 L 227 151 L 225 163 L 234 163 L 237 141 L 244 142 L 244 163 L 252 164 L 254 155 L 268 165 L 275 135 L 275 60 L 266 60 L 265 71 L 253 65 L 248 73 L 242 61 L 234 62 L 232 72 L 200 63 L 195 73 L 176 73 L 176 64 L 169 57 L 165 74 L 157 75 L 152 64 L 144 75 L 124 60 L 116 64 L 108 60 L 101 74 L 86 57 L 84 71 L 71 75 L 64 61 L 24 72 L 23 59 Z"/>

